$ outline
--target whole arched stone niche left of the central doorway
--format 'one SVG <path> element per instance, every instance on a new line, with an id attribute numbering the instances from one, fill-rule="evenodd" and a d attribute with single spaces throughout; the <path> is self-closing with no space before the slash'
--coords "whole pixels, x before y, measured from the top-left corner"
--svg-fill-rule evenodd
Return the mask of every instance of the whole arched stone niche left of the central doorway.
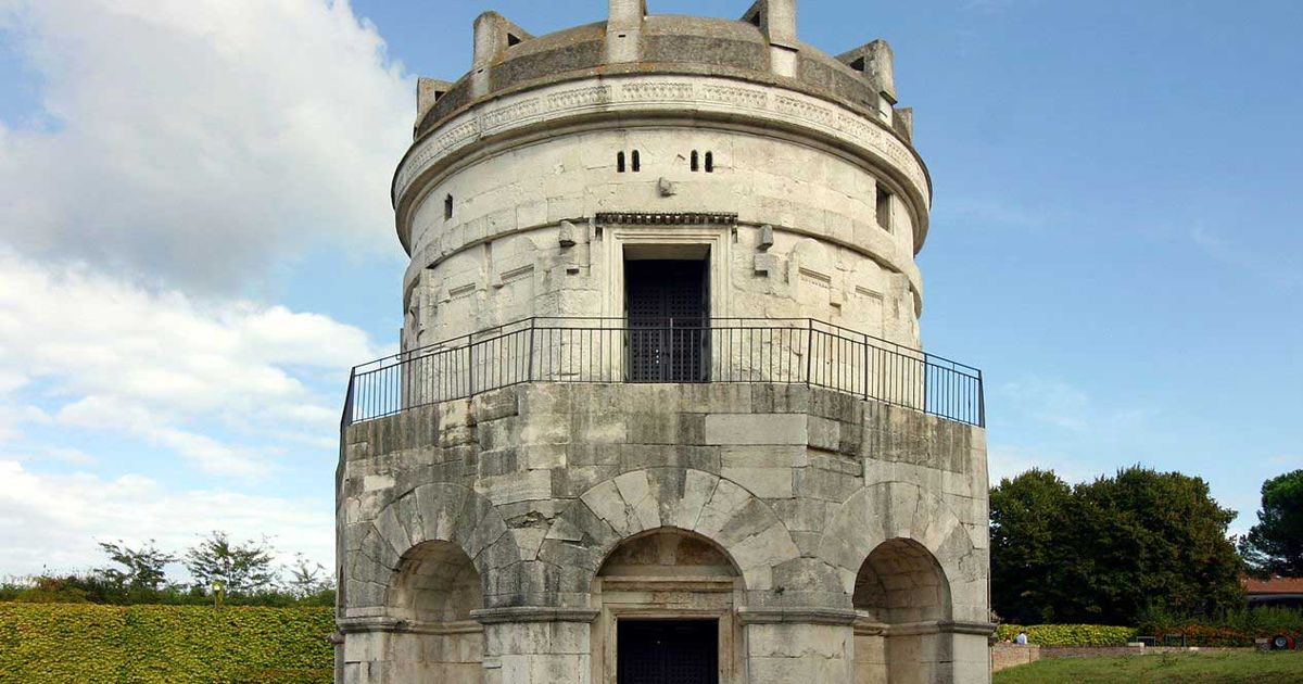
<path id="1" fill-rule="evenodd" d="M 400 620 L 394 638 L 397 681 L 483 680 L 483 628 L 470 611 L 483 607 L 480 573 L 452 542 L 421 542 L 399 560 L 388 611 Z"/>

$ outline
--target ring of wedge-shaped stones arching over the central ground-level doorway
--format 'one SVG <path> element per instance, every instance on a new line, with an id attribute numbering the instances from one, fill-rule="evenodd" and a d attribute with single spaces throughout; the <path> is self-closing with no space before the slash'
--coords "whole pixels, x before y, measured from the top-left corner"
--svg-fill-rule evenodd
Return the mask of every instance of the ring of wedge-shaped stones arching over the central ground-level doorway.
<path id="1" fill-rule="evenodd" d="M 590 487 L 552 521 L 538 558 L 576 568 L 559 589 L 586 593 L 618 545 L 661 528 L 718 545 L 748 590 L 773 589 L 774 567 L 800 558 L 769 504 L 730 479 L 688 468 L 631 470 Z"/>

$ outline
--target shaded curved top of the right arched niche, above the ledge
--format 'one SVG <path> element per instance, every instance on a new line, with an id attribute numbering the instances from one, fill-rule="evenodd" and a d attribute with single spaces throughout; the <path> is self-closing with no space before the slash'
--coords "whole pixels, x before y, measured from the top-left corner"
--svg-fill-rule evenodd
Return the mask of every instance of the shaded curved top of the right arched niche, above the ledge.
<path id="1" fill-rule="evenodd" d="M 907 624 L 950 618 L 950 582 L 921 543 L 899 537 L 880 543 L 855 576 L 851 605 L 869 620 Z"/>

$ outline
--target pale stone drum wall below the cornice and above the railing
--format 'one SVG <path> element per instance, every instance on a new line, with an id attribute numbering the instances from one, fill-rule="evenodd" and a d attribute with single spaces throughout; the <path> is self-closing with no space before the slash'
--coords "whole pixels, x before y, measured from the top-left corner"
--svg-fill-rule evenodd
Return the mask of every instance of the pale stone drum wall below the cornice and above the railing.
<path id="1" fill-rule="evenodd" d="M 616 152 L 632 149 L 641 172 L 616 172 Z M 713 151 L 713 173 L 689 171 L 693 150 Z M 913 219 L 896 198 L 878 225 L 878 182 L 826 151 L 723 130 L 590 132 L 503 151 L 416 208 L 404 348 L 532 315 L 619 319 L 625 250 L 648 242 L 709 249 L 714 317 L 816 318 L 917 347 Z M 595 223 L 629 207 L 739 224 Z"/>

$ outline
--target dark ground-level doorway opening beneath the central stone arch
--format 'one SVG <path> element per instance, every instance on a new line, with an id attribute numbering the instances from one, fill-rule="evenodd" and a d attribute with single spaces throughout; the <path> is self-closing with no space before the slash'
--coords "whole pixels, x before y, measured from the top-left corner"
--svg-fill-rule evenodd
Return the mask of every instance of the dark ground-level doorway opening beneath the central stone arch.
<path id="1" fill-rule="evenodd" d="M 616 684 L 718 684 L 718 620 L 620 620 Z"/>

